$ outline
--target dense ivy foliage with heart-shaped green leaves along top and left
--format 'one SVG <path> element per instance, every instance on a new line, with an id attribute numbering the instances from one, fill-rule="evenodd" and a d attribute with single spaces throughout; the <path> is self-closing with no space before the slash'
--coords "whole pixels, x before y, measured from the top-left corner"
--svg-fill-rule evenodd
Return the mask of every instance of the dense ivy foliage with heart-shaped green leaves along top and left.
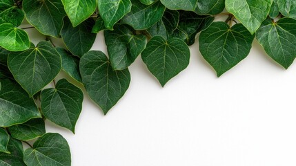
<path id="1" fill-rule="evenodd" d="M 29 28 L 44 40 L 33 44 Z M 90 50 L 97 33 L 108 55 Z M 254 39 L 279 66 L 293 64 L 296 2 L 0 0 L 0 165 L 71 165 L 67 141 L 46 133 L 45 120 L 75 133 L 83 93 L 106 115 L 128 90 L 138 57 L 165 86 L 197 56 L 189 49 L 195 42 L 220 77 Z M 68 77 L 57 80 L 61 71 Z"/>

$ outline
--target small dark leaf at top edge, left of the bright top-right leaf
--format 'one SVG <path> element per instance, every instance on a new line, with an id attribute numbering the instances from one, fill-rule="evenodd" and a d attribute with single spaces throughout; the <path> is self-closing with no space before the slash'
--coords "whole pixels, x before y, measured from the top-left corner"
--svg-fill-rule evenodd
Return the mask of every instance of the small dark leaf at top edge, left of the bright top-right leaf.
<path id="1" fill-rule="evenodd" d="M 225 0 L 198 0 L 195 12 L 199 15 L 217 15 L 225 8 Z"/>

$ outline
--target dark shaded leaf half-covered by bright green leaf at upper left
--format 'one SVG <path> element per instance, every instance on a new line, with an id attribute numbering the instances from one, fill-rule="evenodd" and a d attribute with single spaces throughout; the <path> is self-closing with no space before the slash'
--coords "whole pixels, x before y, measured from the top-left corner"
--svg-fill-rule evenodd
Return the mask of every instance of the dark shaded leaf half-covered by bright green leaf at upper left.
<path id="1" fill-rule="evenodd" d="M 95 21 L 92 18 L 87 19 L 75 28 L 66 17 L 63 22 L 64 26 L 61 30 L 63 42 L 73 55 L 81 57 L 92 48 L 92 44 L 94 44 L 97 37 L 97 34 L 92 33 L 92 26 L 95 25 Z"/>

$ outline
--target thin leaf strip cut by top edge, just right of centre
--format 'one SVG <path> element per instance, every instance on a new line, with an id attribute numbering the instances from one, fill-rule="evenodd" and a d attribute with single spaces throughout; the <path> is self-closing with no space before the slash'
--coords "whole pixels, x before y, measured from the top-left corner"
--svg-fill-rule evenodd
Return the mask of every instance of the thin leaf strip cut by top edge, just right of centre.
<path id="1" fill-rule="evenodd" d="M 190 10 L 194 11 L 197 6 L 197 0 L 160 0 L 166 8 L 170 10 Z"/>

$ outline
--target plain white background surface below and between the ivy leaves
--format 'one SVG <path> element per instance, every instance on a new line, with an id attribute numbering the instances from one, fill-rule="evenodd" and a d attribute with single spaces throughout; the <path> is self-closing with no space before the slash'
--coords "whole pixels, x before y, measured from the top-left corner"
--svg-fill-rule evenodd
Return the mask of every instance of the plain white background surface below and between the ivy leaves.
<path id="1" fill-rule="evenodd" d="M 43 39 L 27 32 L 35 44 Z M 92 50 L 107 53 L 102 33 Z M 190 50 L 188 68 L 164 88 L 138 57 L 130 88 L 107 116 L 85 95 L 75 135 L 47 122 L 68 140 L 72 165 L 296 165 L 296 64 L 285 71 L 254 41 L 217 78 L 198 42 Z"/>

